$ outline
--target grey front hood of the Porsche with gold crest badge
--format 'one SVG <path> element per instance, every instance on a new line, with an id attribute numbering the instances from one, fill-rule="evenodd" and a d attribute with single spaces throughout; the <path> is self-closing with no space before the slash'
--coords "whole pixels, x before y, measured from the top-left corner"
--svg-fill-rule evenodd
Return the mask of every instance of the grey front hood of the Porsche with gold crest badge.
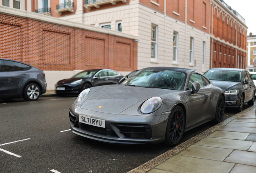
<path id="1" fill-rule="evenodd" d="M 161 95 L 175 92 L 179 91 L 125 85 L 107 85 L 91 94 L 85 103 L 81 105 L 81 108 L 101 113 L 119 114 L 136 103 L 144 103 L 144 101 L 151 97 L 161 97 Z"/>

